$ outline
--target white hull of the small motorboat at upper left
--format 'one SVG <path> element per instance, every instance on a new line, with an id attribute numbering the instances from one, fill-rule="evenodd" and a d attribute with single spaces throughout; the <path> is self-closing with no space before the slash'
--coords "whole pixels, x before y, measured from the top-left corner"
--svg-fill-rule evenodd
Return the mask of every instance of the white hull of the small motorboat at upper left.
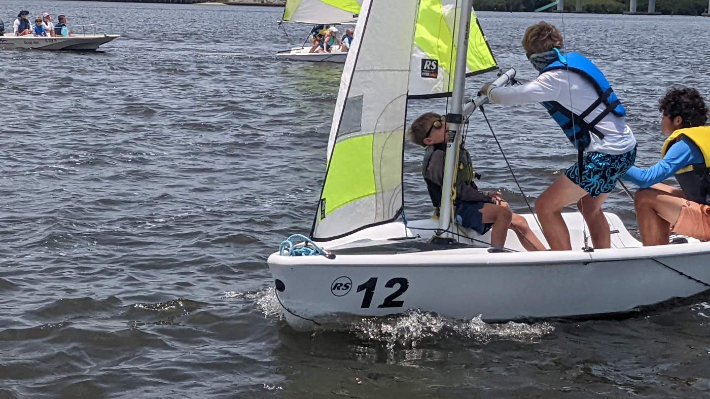
<path id="1" fill-rule="evenodd" d="M 0 49 L 24 48 L 35 50 L 77 50 L 94 51 L 104 43 L 118 38 L 119 35 L 80 35 L 70 37 L 37 38 L 31 35 L 0 36 Z"/>

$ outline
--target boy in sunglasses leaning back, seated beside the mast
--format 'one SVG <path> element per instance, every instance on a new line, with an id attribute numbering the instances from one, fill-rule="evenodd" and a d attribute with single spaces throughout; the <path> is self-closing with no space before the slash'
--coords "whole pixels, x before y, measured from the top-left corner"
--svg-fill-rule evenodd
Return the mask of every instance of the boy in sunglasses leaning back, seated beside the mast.
<path id="1" fill-rule="evenodd" d="M 413 143 L 425 148 L 422 176 L 427 183 L 427 190 L 437 213 L 442 201 L 446 129 L 446 117 L 434 112 L 422 114 L 410 127 L 410 138 Z M 508 229 L 512 228 L 526 250 L 545 250 L 545 246 L 530 230 L 525 218 L 510 211 L 508 203 L 501 197 L 501 192 L 479 191 L 474 183 L 477 174 L 471 165 L 471 155 L 464 148 L 460 149 L 459 154 L 457 198 L 454 202 L 458 224 L 473 229 L 479 234 L 486 234 L 491 230 L 493 248 L 503 248 Z"/>

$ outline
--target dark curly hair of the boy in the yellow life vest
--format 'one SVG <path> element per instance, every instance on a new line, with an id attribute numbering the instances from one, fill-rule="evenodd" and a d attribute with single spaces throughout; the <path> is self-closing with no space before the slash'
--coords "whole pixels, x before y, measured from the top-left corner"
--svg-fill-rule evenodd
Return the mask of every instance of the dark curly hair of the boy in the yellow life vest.
<path id="1" fill-rule="evenodd" d="M 670 119 L 680 116 L 682 128 L 702 126 L 708 120 L 707 106 L 697 89 L 673 87 L 658 104 L 658 110 Z"/>

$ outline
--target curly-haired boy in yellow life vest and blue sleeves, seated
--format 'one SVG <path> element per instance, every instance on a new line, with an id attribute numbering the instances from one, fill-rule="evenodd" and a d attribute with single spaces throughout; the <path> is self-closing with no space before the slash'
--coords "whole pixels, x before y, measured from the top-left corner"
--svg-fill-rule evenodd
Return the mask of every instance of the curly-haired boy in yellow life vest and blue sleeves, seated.
<path id="1" fill-rule="evenodd" d="M 625 180 L 641 190 L 634 196 L 644 246 L 669 243 L 670 231 L 710 240 L 710 126 L 697 89 L 672 88 L 660 100 L 662 159 L 648 169 L 630 168 Z M 662 184 L 675 175 L 680 188 Z"/>

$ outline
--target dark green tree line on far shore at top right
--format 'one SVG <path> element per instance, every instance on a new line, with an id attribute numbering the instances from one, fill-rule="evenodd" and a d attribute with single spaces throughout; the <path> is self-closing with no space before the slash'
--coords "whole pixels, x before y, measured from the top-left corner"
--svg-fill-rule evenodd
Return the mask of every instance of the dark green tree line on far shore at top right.
<path id="1" fill-rule="evenodd" d="M 550 4 L 552 0 L 476 0 L 479 11 L 535 11 Z M 623 13 L 628 11 L 629 1 L 582 0 L 581 9 L 587 13 Z M 574 11 L 576 0 L 567 0 L 564 9 Z M 708 0 L 656 0 L 656 12 L 664 14 L 699 15 L 707 12 Z M 556 6 L 552 9 L 556 9 Z M 638 0 L 636 11 L 648 10 L 648 0 Z"/>

